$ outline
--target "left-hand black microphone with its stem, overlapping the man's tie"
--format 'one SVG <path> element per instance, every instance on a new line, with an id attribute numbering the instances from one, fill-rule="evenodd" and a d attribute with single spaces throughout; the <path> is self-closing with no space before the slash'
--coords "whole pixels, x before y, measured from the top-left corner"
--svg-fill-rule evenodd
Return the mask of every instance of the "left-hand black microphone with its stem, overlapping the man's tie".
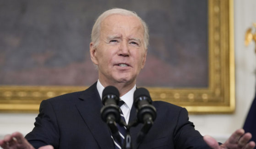
<path id="1" fill-rule="evenodd" d="M 105 87 L 102 93 L 103 107 L 100 110 L 101 118 L 106 122 L 110 128 L 112 136 L 118 142 L 121 142 L 119 130 L 116 122 L 120 122 L 120 108 L 117 105 L 119 102 L 119 91 L 114 86 Z"/>

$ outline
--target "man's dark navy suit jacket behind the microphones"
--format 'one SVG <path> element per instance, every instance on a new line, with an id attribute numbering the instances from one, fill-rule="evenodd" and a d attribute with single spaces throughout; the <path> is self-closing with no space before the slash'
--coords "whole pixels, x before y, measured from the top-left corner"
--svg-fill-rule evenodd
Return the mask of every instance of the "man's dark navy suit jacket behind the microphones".
<path id="1" fill-rule="evenodd" d="M 188 121 L 185 108 L 153 102 L 157 118 L 141 143 L 136 143 L 139 124 L 131 128 L 133 149 L 207 149 L 202 135 Z M 110 131 L 100 116 L 101 102 L 96 83 L 82 92 L 73 92 L 42 101 L 33 131 L 26 139 L 35 148 L 51 144 L 54 149 L 114 149 Z M 131 109 L 130 120 L 136 118 Z"/>

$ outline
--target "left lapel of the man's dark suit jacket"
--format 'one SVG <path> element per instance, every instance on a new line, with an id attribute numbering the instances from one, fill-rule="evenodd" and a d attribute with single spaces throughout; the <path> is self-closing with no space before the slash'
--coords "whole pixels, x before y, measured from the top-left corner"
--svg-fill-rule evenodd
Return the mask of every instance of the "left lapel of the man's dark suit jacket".
<path id="1" fill-rule="evenodd" d="M 100 109 L 103 107 L 96 83 L 83 92 L 76 108 L 80 112 L 84 122 L 90 129 L 94 139 L 101 149 L 114 149 L 113 140 L 110 138 L 110 131 L 105 122 L 101 119 Z"/>

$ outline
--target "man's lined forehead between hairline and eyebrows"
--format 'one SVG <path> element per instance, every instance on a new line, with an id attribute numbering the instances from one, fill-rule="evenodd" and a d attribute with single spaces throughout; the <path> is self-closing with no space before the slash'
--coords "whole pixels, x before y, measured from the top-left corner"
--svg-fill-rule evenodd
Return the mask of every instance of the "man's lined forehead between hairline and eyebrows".
<path id="1" fill-rule="evenodd" d="M 101 32 L 144 32 L 142 22 L 132 15 L 109 15 L 101 23 Z"/>

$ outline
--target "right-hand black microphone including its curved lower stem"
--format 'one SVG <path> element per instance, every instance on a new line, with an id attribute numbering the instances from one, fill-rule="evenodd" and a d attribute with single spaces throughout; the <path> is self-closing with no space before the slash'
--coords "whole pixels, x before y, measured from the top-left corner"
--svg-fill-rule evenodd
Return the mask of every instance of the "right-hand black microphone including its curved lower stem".
<path id="1" fill-rule="evenodd" d="M 146 88 L 138 88 L 133 94 L 135 107 L 137 109 L 137 119 L 139 123 L 143 123 L 143 127 L 138 134 L 137 143 L 141 142 L 147 132 L 153 125 L 153 121 L 157 117 L 157 110 L 152 105 L 152 99 Z"/>

